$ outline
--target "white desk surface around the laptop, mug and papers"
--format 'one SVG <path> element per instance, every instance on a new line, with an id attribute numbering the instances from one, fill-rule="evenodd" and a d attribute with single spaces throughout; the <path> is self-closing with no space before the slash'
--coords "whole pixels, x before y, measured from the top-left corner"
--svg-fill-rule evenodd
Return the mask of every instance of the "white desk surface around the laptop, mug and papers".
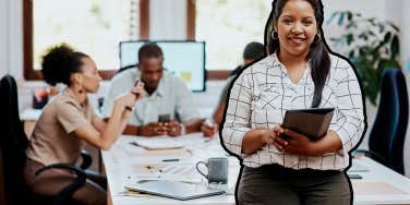
<path id="1" fill-rule="evenodd" d="M 239 161 L 234 157 L 228 157 L 219 144 L 219 140 L 207 141 L 202 134 L 195 133 L 174 138 L 186 144 L 185 148 L 168 150 L 147 150 L 130 144 L 141 137 L 121 136 L 109 152 L 102 153 L 102 160 L 108 178 L 109 198 L 113 205 L 125 204 L 234 204 L 234 185 L 239 173 Z M 148 140 L 148 138 L 147 138 Z M 189 147 L 189 148 L 186 148 Z M 158 170 L 169 169 L 169 167 L 184 167 L 182 173 L 186 179 L 202 180 L 202 177 L 194 171 L 194 164 L 198 160 L 206 160 L 209 157 L 229 158 L 229 179 L 227 194 L 196 198 L 191 201 L 178 201 L 158 196 L 144 195 L 129 192 L 124 184 L 134 179 L 152 176 Z M 180 158 L 178 162 L 164 162 L 162 159 Z M 410 204 L 410 179 L 387 169 L 374 160 L 361 157 L 354 159 L 358 165 L 369 169 L 369 171 L 354 172 L 361 174 L 363 179 L 351 180 L 354 191 L 354 204 Z M 183 169 L 183 168 L 182 168 Z M 204 182 L 205 179 L 202 180 Z"/>

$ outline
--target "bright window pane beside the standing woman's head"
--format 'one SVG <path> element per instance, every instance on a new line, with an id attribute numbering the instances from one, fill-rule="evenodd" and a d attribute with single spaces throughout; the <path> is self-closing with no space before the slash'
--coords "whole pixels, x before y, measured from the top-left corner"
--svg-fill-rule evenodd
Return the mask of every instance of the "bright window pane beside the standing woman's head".
<path id="1" fill-rule="evenodd" d="M 270 3 L 268 0 L 196 0 L 195 39 L 206 41 L 207 70 L 232 70 L 242 63 L 248 43 L 264 43 Z"/>

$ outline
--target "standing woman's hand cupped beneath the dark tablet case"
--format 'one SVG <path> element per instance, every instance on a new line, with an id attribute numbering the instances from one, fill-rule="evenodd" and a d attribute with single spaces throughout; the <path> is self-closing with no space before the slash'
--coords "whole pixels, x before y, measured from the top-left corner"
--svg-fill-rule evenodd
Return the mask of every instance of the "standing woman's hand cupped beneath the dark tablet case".
<path id="1" fill-rule="evenodd" d="M 312 142 L 308 136 L 289 129 L 285 129 L 285 134 L 290 136 L 287 140 L 288 146 L 285 147 L 286 153 L 308 156 L 319 154 L 318 149 L 315 148 L 315 142 Z"/>

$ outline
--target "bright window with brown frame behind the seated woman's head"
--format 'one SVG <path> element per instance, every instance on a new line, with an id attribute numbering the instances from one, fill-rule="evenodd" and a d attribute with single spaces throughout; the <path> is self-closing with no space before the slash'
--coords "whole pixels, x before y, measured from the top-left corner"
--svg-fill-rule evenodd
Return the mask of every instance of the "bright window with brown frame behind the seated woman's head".
<path id="1" fill-rule="evenodd" d="M 148 0 L 23 2 L 26 80 L 39 80 L 43 53 L 60 43 L 89 55 L 109 79 L 119 69 L 119 43 L 148 37 Z"/>

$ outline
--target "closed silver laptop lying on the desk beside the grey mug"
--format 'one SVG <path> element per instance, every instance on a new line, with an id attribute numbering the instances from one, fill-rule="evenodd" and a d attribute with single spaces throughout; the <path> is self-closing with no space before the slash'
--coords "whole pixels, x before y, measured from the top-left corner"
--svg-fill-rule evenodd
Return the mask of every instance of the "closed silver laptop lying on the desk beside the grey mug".
<path id="1" fill-rule="evenodd" d="M 183 183 L 168 180 L 143 180 L 126 184 L 125 189 L 181 201 L 224 194 L 224 190 L 207 188 L 203 184 Z"/>

